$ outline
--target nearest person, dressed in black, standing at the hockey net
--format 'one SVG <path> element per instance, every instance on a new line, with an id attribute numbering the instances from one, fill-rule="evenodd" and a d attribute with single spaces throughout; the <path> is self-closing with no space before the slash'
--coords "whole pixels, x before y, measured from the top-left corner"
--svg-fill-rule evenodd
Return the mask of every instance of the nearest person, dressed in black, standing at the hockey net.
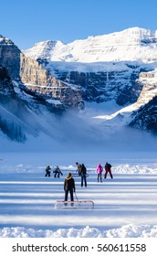
<path id="1" fill-rule="evenodd" d="M 71 199 L 71 206 L 73 206 L 73 201 L 74 201 L 73 192 L 75 192 L 75 180 L 73 179 L 70 173 L 68 173 L 68 176 L 65 178 L 64 190 L 65 190 L 65 201 L 68 201 L 68 192 L 69 192 L 70 199 Z M 65 203 L 65 205 L 67 206 L 67 203 Z"/>

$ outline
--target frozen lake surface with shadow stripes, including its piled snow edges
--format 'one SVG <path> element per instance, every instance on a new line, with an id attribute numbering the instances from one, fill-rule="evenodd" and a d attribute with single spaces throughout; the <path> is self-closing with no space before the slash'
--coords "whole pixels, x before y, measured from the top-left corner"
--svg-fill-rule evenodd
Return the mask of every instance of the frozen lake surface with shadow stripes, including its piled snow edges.
<path id="1" fill-rule="evenodd" d="M 95 168 L 89 168 L 87 188 L 76 177 L 78 199 L 92 200 L 93 209 L 55 209 L 56 201 L 64 199 L 64 179 L 76 172 L 75 166 L 64 167 L 60 178 L 45 177 L 43 166 L 12 167 L 15 173 L 3 172 L 1 166 L 1 237 L 157 236 L 156 164 L 115 165 L 113 179 L 108 176 L 102 183 Z"/>

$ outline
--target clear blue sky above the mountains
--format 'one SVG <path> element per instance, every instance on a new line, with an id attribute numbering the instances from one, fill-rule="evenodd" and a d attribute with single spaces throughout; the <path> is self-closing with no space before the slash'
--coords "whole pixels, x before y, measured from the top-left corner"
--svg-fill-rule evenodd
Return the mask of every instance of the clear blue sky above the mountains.
<path id="1" fill-rule="evenodd" d="M 157 29 L 156 0 L 0 0 L 0 35 L 20 49 L 64 43 L 129 27 Z"/>

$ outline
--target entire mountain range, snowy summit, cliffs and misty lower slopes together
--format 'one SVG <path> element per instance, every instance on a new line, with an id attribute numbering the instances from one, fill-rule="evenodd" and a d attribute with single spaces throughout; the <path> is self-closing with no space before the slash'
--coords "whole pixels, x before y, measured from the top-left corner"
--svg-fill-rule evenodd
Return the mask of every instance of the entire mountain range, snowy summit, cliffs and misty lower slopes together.
<path id="1" fill-rule="evenodd" d="M 156 70 L 157 31 L 139 27 L 23 53 L 1 36 L 0 135 L 82 147 L 126 126 L 156 133 Z"/>

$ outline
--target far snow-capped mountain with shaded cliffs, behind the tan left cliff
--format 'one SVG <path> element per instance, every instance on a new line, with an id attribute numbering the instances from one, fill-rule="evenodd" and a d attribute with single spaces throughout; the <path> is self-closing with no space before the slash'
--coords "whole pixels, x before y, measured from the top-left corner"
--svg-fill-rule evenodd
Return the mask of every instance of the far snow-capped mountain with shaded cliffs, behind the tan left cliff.
<path id="1" fill-rule="evenodd" d="M 45 41 L 24 53 L 38 59 L 59 80 L 80 86 L 84 101 L 114 100 L 123 106 L 111 115 L 97 116 L 107 126 L 115 119 L 121 124 L 121 117 L 123 123 L 132 125 L 139 109 L 157 95 L 157 30 L 132 27 L 69 44 Z"/>

